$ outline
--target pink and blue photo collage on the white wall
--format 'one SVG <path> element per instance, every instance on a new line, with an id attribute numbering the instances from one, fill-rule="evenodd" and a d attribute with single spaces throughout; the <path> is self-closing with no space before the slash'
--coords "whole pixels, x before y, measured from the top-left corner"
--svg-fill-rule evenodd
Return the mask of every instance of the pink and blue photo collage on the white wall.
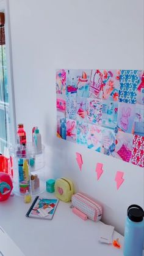
<path id="1" fill-rule="evenodd" d="M 57 137 L 144 167 L 144 72 L 57 69 Z"/>

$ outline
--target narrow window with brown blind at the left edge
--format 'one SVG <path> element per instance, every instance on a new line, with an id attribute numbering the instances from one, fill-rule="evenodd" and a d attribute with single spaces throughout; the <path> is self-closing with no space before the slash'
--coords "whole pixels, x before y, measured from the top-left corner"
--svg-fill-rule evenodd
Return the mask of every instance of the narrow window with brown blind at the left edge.
<path id="1" fill-rule="evenodd" d="M 7 33 L 5 33 L 5 30 L 7 30 Z M 5 156 L 7 156 L 7 149 L 9 149 L 10 144 L 15 141 L 15 115 L 12 101 L 12 77 L 9 71 L 9 48 L 8 25 L 7 29 L 5 26 L 5 9 L 2 10 L 0 4 L 0 153 Z"/>

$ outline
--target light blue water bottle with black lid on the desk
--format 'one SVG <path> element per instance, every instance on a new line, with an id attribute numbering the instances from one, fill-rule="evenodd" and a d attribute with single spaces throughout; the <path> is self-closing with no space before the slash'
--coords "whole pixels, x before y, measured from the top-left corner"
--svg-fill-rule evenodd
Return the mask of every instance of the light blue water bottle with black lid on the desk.
<path id="1" fill-rule="evenodd" d="M 143 215 L 143 209 L 137 204 L 129 206 L 124 230 L 124 256 L 143 256 Z"/>

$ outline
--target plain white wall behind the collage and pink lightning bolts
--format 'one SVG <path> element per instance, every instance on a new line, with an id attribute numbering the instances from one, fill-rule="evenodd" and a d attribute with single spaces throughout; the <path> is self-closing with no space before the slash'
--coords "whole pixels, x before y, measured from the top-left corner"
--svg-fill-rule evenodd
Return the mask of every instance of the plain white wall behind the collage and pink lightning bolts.
<path id="1" fill-rule="evenodd" d="M 32 126 L 40 128 L 53 176 L 71 177 L 101 201 L 103 220 L 123 233 L 129 204 L 143 207 L 143 169 L 56 138 L 55 70 L 143 69 L 143 1 L 12 0 L 9 6 L 16 122 L 24 123 L 29 139 Z M 98 161 L 104 163 L 99 181 Z M 119 190 L 117 171 L 125 179 Z"/>

